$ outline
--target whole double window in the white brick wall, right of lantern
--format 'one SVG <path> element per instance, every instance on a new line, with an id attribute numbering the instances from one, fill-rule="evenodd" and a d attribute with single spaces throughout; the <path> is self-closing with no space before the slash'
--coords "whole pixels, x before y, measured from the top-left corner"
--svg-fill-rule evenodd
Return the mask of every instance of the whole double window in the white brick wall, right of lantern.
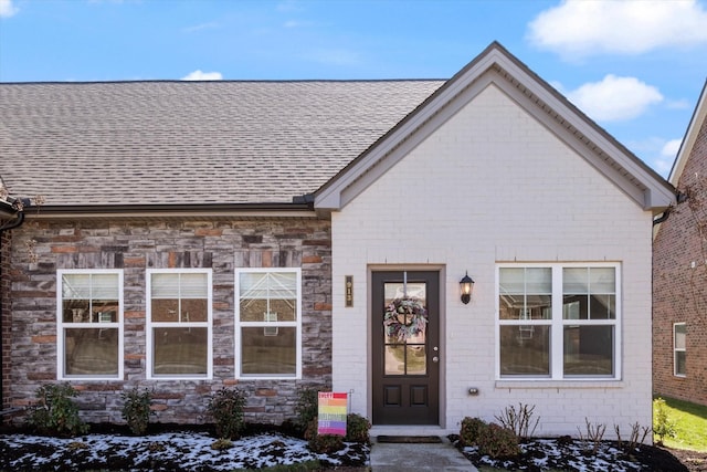
<path id="1" fill-rule="evenodd" d="M 498 266 L 498 377 L 619 378 L 616 264 Z"/>

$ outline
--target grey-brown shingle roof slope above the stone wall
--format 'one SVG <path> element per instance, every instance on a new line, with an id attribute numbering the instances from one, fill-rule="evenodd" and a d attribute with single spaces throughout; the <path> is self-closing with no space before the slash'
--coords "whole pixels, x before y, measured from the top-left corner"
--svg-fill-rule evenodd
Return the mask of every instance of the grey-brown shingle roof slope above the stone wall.
<path id="1" fill-rule="evenodd" d="M 0 175 L 46 206 L 287 203 L 443 81 L 0 84 Z"/>

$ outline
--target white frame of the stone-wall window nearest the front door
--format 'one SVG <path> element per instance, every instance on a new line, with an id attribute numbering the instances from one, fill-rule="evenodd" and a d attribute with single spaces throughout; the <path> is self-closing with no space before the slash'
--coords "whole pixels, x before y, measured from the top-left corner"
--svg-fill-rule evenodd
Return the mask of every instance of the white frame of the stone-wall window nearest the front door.
<path id="1" fill-rule="evenodd" d="M 296 284 L 297 284 L 297 319 L 294 322 L 241 322 L 241 274 L 242 273 L 272 273 L 272 272 L 287 272 L 294 273 L 296 275 Z M 234 290 L 234 298 L 235 298 L 235 377 L 243 380 L 293 380 L 302 378 L 302 269 L 299 268 L 238 268 L 235 270 L 235 290 Z M 244 327 L 262 327 L 263 329 L 273 329 L 278 327 L 295 327 L 296 331 L 296 339 L 295 339 L 295 349 L 296 349 L 296 371 L 295 375 L 267 375 L 267 374 L 243 374 L 242 373 L 242 363 L 241 363 L 241 328 Z"/>

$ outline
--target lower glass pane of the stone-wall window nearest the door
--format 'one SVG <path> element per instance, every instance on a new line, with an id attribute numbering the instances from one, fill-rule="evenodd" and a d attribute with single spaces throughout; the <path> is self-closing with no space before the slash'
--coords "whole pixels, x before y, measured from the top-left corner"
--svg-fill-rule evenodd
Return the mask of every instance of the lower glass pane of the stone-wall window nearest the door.
<path id="1" fill-rule="evenodd" d="M 297 331 L 294 327 L 241 328 L 243 375 L 287 375 L 297 371 Z"/>

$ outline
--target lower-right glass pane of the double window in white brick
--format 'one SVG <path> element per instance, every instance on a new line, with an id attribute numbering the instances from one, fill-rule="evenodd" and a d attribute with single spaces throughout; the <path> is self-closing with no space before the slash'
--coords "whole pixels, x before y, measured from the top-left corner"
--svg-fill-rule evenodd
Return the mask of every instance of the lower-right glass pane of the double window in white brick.
<path id="1" fill-rule="evenodd" d="M 613 376 L 613 326 L 564 326 L 566 376 Z"/>

